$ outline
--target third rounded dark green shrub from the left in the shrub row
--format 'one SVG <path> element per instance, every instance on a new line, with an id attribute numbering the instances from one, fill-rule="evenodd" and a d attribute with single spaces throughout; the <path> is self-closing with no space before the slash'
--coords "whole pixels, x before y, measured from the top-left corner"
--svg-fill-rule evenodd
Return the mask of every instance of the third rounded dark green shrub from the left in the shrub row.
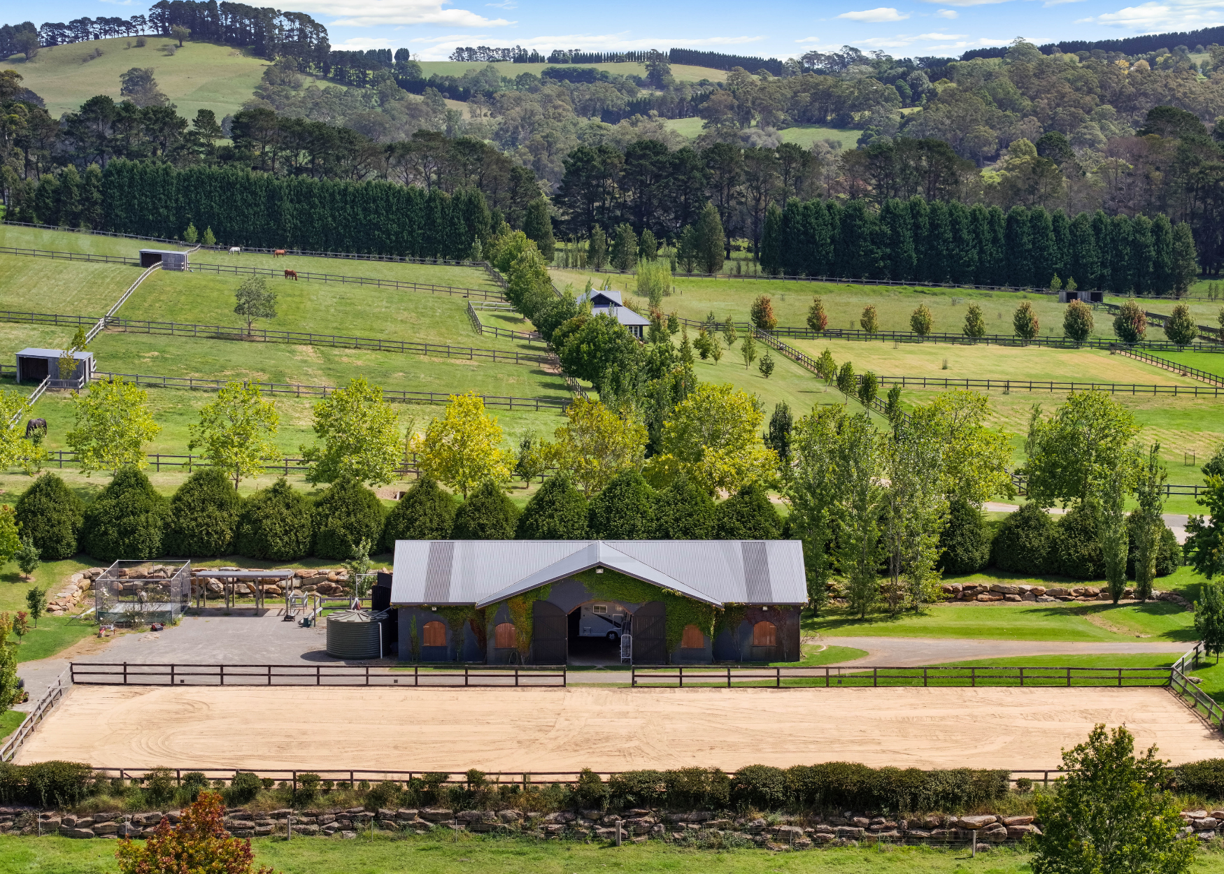
<path id="1" fill-rule="evenodd" d="M 242 499 L 222 470 L 197 470 L 170 498 L 166 555 L 196 558 L 231 553 L 241 512 Z"/>

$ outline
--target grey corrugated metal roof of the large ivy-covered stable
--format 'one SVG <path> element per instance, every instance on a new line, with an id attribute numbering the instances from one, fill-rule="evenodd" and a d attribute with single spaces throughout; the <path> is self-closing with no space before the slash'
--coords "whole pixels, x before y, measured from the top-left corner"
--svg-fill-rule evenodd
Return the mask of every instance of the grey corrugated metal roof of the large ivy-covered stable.
<path id="1" fill-rule="evenodd" d="M 606 567 L 707 603 L 804 603 L 797 540 L 400 540 L 392 603 L 483 606 Z"/>

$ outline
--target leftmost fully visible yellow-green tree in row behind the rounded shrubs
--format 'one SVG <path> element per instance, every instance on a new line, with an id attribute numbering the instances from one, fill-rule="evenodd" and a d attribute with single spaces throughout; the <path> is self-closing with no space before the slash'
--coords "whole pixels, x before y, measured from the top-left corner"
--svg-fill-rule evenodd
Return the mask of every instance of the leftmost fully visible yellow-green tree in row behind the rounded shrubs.
<path id="1" fill-rule="evenodd" d="M 153 421 L 144 389 L 122 377 L 99 379 L 91 382 L 84 394 L 72 393 L 72 409 L 76 422 L 65 442 L 86 476 L 148 464 L 144 443 L 157 437 L 162 426 Z"/>

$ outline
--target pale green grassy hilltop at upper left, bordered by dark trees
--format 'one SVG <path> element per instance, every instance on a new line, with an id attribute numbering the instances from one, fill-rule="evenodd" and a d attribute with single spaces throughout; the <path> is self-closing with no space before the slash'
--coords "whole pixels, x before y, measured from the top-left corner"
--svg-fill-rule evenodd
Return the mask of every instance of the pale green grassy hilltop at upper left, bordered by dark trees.
<path id="1" fill-rule="evenodd" d="M 47 102 L 47 111 L 59 119 L 75 111 L 95 94 L 119 100 L 119 75 L 131 67 L 153 67 L 158 87 L 177 105 L 179 115 L 193 119 L 211 109 L 218 121 L 236 113 L 251 99 L 268 61 L 252 58 L 233 45 L 188 42 L 173 56 L 162 51 L 169 37 L 148 37 L 148 45 L 135 48 L 132 37 L 97 39 L 44 48 L 33 61 L 0 61 L 0 69 L 21 73 L 22 84 Z M 127 48 L 131 43 L 132 48 Z M 95 49 L 102 56 L 87 61 Z M 11 244 L 6 244 L 11 245 Z"/>

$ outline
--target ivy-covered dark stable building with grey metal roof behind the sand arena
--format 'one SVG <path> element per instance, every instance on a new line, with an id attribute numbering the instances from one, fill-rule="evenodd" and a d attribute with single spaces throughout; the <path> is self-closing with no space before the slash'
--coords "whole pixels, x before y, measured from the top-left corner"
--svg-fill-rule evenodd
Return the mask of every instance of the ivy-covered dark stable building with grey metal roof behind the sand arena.
<path id="1" fill-rule="evenodd" d="M 400 540 L 401 661 L 797 661 L 798 540 Z"/>

